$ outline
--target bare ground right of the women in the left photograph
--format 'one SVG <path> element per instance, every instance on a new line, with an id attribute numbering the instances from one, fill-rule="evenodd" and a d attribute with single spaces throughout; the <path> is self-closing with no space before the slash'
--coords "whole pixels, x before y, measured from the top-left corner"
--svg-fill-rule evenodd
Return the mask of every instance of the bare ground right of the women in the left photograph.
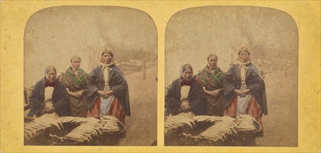
<path id="1" fill-rule="evenodd" d="M 121 146 L 148 146 L 157 140 L 157 67 L 126 76 L 130 88 L 132 115 L 125 119 L 126 138 L 120 139 Z"/>

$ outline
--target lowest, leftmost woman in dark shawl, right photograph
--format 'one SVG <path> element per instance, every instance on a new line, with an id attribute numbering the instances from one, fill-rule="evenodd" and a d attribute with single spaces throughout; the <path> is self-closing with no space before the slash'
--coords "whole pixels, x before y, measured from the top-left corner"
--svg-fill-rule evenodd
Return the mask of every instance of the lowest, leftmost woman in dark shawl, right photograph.
<path id="1" fill-rule="evenodd" d="M 191 65 L 182 66 L 180 78 L 173 81 L 166 92 L 165 104 L 165 116 L 191 113 L 188 117 L 192 118 L 208 113 L 205 92 L 201 83 L 193 77 Z"/>

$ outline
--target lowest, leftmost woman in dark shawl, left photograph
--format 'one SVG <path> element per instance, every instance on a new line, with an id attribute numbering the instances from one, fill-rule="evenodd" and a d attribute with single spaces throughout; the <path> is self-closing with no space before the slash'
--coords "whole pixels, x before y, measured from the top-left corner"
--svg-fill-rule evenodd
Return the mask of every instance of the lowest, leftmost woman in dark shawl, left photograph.
<path id="1" fill-rule="evenodd" d="M 27 116 L 47 114 L 57 118 L 69 115 L 68 91 L 56 75 L 56 67 L 46 67 L 45 77 L 36 83 L 29 97 L 31 110 Z"/>

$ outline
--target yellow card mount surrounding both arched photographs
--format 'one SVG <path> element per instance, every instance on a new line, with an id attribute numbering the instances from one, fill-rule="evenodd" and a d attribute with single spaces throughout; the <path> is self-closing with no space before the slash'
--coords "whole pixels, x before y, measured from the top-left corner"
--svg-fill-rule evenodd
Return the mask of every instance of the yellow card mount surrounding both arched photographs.
<path id="1" fill-rule="evenodd" d="M 54 6 L 124 6 L 148 13 L 157 26 L 157 146 L 24 146 L 24 29 L 38 10 Z M 262 6 L 283 10 L 299 30 L 298 147 L 164 147 L 164 45 L 172 15 L 198 6 Z M 0 1 L 1 144 L 0 152 L 321 152 L 320 8 L 321 1 Z"/>

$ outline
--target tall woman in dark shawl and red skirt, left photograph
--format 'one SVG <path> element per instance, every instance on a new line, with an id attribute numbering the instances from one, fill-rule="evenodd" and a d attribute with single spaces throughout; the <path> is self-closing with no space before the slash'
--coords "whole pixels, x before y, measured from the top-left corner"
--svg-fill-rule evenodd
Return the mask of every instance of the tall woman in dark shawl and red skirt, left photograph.
<path id="1" fill-rule="evenodd" d="M 93 67 L 87 79 L 88 117 L 113 115 L 125 123 L 130 116 L 130 98 L 123 72 L 113 63 L 111 49 L 102 50 L 100 63 Z"/>

